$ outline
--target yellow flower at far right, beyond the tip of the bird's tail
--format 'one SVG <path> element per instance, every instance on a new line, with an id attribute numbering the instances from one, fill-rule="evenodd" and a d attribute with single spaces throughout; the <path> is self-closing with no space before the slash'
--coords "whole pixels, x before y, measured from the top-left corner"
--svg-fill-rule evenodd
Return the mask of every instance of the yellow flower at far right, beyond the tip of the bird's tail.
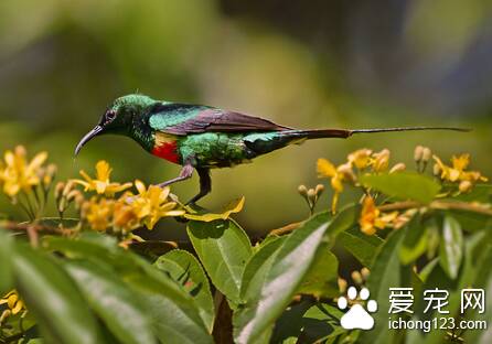
<path id="1" fill-rule="evenodd" d="M 457 182 L 457 181 L 468 181 L 468 182 L 486 182 L 488 179 L 483 176 L 478 171 L 464 171 L 470 164 L 470 154 L 461 154 L 459 157 L 451 158 L 452 166 L 446 165 L 438 157 L 434 155 L 436 160 L 435 168 L 436 172 L 440 173 L 441 180 Z"/>

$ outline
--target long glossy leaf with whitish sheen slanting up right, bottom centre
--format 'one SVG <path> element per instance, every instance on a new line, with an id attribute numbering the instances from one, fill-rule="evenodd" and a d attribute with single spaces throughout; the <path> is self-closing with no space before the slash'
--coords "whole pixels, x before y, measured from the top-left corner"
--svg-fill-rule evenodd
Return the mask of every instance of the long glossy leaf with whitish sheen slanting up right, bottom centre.
<path id="1" fill-rule="evenodd" d="M 245 292 L 246 303 L 234 314 L 237 343 L 257 343 L 259 338 L 263 343 L 268 340 L 275 321 L 290 303 L 314 262 L 325 235 L 328 238 L 331 233 L 340 233 L 346 229 L 344 226 L 352 225 L 346 221 L 336 221 L 345 216 L 342 212 L 329 221 L 328 213 L 318 214 L 284 240 L 268 271 L 265 273 L 265 269 L 260 269 L 260 278 L 253 277 L 257 282 L 249 283 Z"/>

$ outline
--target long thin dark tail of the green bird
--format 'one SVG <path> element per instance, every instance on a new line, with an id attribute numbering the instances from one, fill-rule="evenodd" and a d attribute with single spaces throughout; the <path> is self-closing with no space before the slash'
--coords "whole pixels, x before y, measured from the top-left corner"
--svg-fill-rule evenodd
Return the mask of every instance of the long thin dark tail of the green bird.
<path id="1" fill-rule="evenodd" d="M 397 128 L 376 128 L 376 129 L 314 129 L 314 130 L 296 130 L 296 131 L 298 132 L 299 136 L 304 137 L 307 139 L 324 139 L 324 138 L 346 139 L 355 133 L 424 131 L 424 130 L 470 131 L 470 129 L 454 128 L 454 127 L 397 127 Z"/>

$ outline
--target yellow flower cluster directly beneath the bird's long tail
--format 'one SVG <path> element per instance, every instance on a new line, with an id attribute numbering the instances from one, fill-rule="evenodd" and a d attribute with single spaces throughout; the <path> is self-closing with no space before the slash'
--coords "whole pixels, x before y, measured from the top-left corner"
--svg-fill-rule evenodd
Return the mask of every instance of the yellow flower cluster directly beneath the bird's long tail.
<path id="1" fill-rule="evenodd" d="M 336 212 L 340 194 L 344 190 L 344 184 L 357 185 L 357 176 L 361 172 L 381 173 L 386 172 L 389 165 L 389 150 L 383 149 L 373 152 L 370 149 L 360 149 L 346 157 L 346 162 L 335 166 L 327 159 L 318 159 L 317 171 L 319 178 L 329 178 L 333 189 L 332 212 Z M 405 164 L 394 165 L 389 173 L 405 170 Z"/>

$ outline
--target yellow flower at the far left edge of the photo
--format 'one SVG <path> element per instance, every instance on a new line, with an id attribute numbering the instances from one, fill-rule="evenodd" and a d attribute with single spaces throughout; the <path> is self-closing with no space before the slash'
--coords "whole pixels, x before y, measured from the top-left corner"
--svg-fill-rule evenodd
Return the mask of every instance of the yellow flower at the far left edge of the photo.
<path id="1" fill-rule="evenodd" d="M 0 182 L 3 183 L 3 192 L 10 197 L 15 196 L 20 191 L 30 192 L 33 186 L 39 185 L 39 170 L 46 161 L 47 153 L 38 153 L 31 162 L 26 160 L 25 148 L 15 147 L 4 154 L 4 166 L 0 169 Z"/>

